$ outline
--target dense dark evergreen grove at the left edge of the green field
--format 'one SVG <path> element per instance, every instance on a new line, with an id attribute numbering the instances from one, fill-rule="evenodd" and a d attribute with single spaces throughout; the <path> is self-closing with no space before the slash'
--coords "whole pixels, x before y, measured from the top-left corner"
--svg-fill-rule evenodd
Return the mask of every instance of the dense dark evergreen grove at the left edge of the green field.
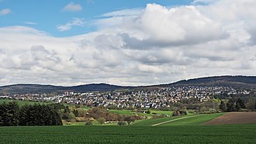
<path id="1" fill-rule="evenodd" d="M 23 105 L 16 102 L 0 105 L 0 126 L 62 125 L 57 105 Z"/>

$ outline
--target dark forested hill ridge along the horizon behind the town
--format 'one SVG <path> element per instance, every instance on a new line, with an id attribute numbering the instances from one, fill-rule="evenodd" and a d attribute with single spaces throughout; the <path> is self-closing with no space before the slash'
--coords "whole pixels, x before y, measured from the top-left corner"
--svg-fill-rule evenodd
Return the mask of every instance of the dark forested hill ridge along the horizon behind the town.
<path id="1" fill-rule="evenodd" d="M 118 91 L 123 89 L 130 90 L 157 90 L 161 87 L 182 87 L 182 86 L 201 86 L 211 87 L 225 86 L 225 87 L 244 87 L 256 89 L 256 77 L 254 76 L 216 76 L 216 77 L 201 77 L 191 80 L 182 80 L 171 84 L 159 84 L 152 86 L 140 87 L 123 87 L 111 84 L 85 84 L 73 87 L 62 87 L 54 85 L 40 85 L 40 84 L 14 84 L 0 87 L 0 95 L 2 94 L 35 94 L 35 93 L 64 93 L 64 91 L 74 92 L 89 92 L 89 91 Z"/>

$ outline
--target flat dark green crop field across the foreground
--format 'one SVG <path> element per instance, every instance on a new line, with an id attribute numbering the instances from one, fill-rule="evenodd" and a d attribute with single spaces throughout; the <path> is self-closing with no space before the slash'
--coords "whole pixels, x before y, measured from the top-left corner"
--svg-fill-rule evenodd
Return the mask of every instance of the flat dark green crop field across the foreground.
<path id="1" fill-rule="evenodd" d="M 0 127 L 0 143 L 254 143 L 256 125 Z"/>

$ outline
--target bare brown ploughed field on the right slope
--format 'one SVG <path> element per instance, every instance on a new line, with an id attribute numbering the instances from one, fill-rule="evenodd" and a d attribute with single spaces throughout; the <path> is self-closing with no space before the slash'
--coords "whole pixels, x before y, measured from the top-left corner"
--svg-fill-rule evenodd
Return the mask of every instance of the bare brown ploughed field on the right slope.
<path id="1" fill-rule="evenodd" d="M 202 125 L 222 125 L 222 124 L 256 124 L 256 111 L 229 112 L 218 118 L 214 118 Z"/>

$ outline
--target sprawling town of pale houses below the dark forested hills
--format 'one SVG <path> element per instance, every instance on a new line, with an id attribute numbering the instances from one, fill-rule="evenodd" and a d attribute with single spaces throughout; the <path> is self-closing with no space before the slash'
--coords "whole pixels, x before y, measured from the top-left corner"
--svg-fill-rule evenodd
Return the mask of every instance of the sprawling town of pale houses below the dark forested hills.
<path id="1" fill-rule="evenodd" d="M 172 103 L 182 99 L 208 101 L 213 94 L 250 94 L 247 90 L 236 90 L 232 87 L 162 87 L 152 91 L 129 92 L 91 92 L 76 93 L 64 91 L 64 94 L 14 94 L 0 96 L 29 101 L 55 101 L 71 105 L 104 106 L 108 108 L 168 108 Z"/>

